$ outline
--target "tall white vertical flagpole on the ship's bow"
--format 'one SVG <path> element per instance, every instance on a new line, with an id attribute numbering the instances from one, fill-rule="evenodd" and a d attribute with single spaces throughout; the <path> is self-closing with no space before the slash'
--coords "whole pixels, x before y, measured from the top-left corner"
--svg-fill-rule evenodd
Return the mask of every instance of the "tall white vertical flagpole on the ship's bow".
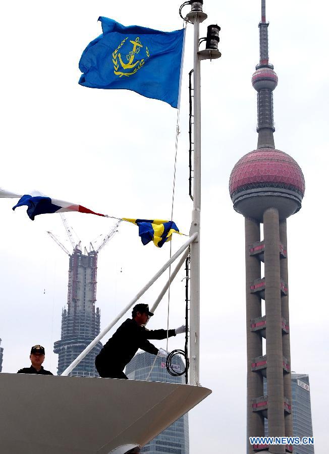
<path id="1" fill-rule="evenodd" d="M 192 11 L 187 19 L 194 25 L 193 64 L 193 113 L 194 113 L 194 167 L 193 167 L 193 210 L 190 236 L 197 233 L 191 244 L 190 280 L 190 384 L 198 386 L 200 367 L 200 212 L 201 212 L 201 99 L 199 25 L 207 15 L 202 12 L 200 2 L 192 2 Z"/>

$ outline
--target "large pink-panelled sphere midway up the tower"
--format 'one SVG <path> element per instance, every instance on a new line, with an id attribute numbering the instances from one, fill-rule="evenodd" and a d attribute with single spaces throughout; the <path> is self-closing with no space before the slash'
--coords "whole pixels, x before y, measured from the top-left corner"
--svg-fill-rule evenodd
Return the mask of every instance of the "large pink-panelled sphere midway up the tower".
<path id="1" fill-rule="evenodd" d="M 280 219 L 299 211 L 304 192 L 304 175 L 297 162 L 274 148 L 258 148 L 245 154 L 230 176 L 234 209 L 260 222 L 267 208 L 277 208 Z"/>

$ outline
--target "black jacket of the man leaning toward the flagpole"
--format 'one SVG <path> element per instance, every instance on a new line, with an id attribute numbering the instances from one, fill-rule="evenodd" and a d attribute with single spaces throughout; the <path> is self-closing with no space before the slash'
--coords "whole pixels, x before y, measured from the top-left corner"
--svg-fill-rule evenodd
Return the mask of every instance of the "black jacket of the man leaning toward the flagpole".
<path id="1" fill-rule="evenodd" d="M 170 329 L 168 336 L 175 336 L 175 329 Z M 138 349 L 156 355 L 158 349 L 147 339 L 166 339 L 167 329 L 146 329 L 133 318 L 127 318 L 113 336 L 108 339 L 98 355 L 98 361 L 106 362 L 114 368 L 123 370 L 136 355 Z"/>

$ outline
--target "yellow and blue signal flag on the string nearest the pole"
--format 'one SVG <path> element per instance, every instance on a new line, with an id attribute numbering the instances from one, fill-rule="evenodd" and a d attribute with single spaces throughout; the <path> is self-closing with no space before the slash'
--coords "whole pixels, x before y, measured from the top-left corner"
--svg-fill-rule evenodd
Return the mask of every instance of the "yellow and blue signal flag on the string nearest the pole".
<path id="1" fill-rule="evenodd" d="M 162 219 L 129 219 L 123 217 L 123 220 L 138 225 L 139 236 L 143 245 L 153 241 L 155 246 L 161 248 L 167 241 L 171 241 L 173 233 L 180 233 L 174 221 Z"/>

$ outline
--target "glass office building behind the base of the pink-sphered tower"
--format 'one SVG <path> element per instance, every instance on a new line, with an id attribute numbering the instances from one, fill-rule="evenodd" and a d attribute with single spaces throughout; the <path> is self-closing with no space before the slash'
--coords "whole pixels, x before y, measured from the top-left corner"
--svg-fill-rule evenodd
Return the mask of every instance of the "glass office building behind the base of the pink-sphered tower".
<path id="1" fill-rule="evenodd" d="M 291 374 L 292 415 L 294 437 L 312 437 L 312 413 L 310 385 L 307 374 Z M 266 395 L 266 378 L 264 378 L 264 395 Z M 265 436 L 268 435 L 265 418 Z M 295 445 L 294 454 L 314 454 L 314 445 Z"/>

